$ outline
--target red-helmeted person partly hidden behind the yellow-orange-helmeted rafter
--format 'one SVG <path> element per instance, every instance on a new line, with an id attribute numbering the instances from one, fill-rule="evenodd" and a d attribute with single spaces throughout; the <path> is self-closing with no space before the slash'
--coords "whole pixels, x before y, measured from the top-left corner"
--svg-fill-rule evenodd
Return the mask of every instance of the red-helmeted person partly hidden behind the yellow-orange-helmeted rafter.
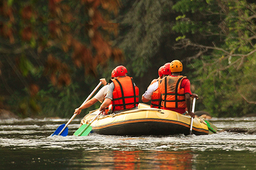
<path id="1" fill-rule="evenodd" d="M 163 66 L 161 66 L 158 70 L 159 78 L 155 83 L 151 84 L 144 94 L 142 94 L 142 102 L 149 102 L 151 100 L 150 107 L 152 108 L 161 108 L 161 94 L 159 91 L 159 83 L 161 82 L 161 79 L 169 76 L 171 74 L 170 72 L 170 63 L 166 63 Z"/>

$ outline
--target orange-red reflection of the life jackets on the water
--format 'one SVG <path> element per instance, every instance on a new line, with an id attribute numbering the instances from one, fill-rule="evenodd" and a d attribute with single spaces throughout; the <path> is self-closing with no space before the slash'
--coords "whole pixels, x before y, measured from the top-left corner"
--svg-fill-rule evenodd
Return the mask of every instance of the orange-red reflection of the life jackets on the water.
<path id="1" fill-rule="evenodd" d="M 191 169 L 191 151 L 113 151 L 116 169 Z"/>

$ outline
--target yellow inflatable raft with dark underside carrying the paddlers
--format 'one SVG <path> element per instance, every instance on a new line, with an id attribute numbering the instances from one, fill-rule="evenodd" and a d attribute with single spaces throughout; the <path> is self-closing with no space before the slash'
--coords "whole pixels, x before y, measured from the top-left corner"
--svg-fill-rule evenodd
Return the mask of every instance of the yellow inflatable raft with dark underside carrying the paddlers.
<path id="1" fill-rule="evenodd" d="M 81 120 L 81 125 L 89 124 L 97 113 L 99 110 L 90 111 Z M 91 126 L 92 132 L 101 135 L 188 135 L 190 123 L 189 115 L 139 104 L 136 110 L 110 115 L 100 114 Z M 192 132 L 195 135 L 214 133 L 215 131 L 211 130 L 209 126 L 205 120 L 196 117 L 193 120 Z"/>

